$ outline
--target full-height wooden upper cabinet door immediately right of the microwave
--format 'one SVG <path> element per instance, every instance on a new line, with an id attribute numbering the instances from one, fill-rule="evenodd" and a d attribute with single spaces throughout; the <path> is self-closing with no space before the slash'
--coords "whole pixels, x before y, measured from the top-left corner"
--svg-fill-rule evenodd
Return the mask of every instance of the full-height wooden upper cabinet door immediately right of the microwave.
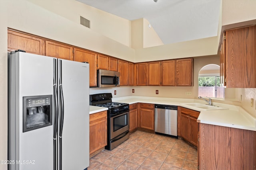
<path id="1" fill-rule="evenodd" d="M 128 62 L 118 60 L 118 72 L 120 72 L 120 86 L 128 86 Z"/>

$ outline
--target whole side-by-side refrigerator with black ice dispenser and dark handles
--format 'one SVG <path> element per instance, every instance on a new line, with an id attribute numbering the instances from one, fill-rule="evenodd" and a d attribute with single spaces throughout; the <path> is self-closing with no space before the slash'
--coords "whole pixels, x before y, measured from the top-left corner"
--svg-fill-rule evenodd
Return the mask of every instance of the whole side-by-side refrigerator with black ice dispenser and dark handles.
<path id="1" fill-rule="evenodd" d="M 89 64 L 8 54 L 8 170 L 89 166 Z"/>

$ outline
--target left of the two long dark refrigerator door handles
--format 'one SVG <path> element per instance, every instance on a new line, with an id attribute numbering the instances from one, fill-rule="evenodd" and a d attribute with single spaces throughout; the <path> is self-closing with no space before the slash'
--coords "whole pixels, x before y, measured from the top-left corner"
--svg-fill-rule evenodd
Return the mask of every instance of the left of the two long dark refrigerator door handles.
<path id="1" fill-rule="evenodd" d="M 57 91 L 57 83 L 56 83 L 56 61 L 57 59 L 53 59 L 53 93 L 54 93 L 54 106 L 55 106 L 55 118 L 54 118 L 54 132 L 53 132 L 53 169 L 58 169 L 57 165 L 57 132 L 58 132 L 58 91 Z"/>

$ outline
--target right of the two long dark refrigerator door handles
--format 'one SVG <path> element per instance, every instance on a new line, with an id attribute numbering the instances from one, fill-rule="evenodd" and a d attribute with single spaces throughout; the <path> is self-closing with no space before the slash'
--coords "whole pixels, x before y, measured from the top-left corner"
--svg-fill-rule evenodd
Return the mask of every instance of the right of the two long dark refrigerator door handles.
<path id="1" fill-rule="evenodd" d="M 62 91 L 62 61 L 59 61 L 59 88 L 60 88 L 60 131 L 59 131 L 59 170 L 62 170 L 62 129 L 64 122 L 64 99 Z"/>

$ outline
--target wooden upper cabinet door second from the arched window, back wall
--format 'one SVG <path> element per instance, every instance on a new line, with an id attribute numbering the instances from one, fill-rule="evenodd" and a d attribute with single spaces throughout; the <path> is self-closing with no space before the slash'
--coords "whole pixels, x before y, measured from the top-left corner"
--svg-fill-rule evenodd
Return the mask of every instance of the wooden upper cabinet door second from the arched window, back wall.
<path id="1" fill-rule="evenodd" d="M 175 60 L 162 61 L 162 86 L 175 86 Z"/>

